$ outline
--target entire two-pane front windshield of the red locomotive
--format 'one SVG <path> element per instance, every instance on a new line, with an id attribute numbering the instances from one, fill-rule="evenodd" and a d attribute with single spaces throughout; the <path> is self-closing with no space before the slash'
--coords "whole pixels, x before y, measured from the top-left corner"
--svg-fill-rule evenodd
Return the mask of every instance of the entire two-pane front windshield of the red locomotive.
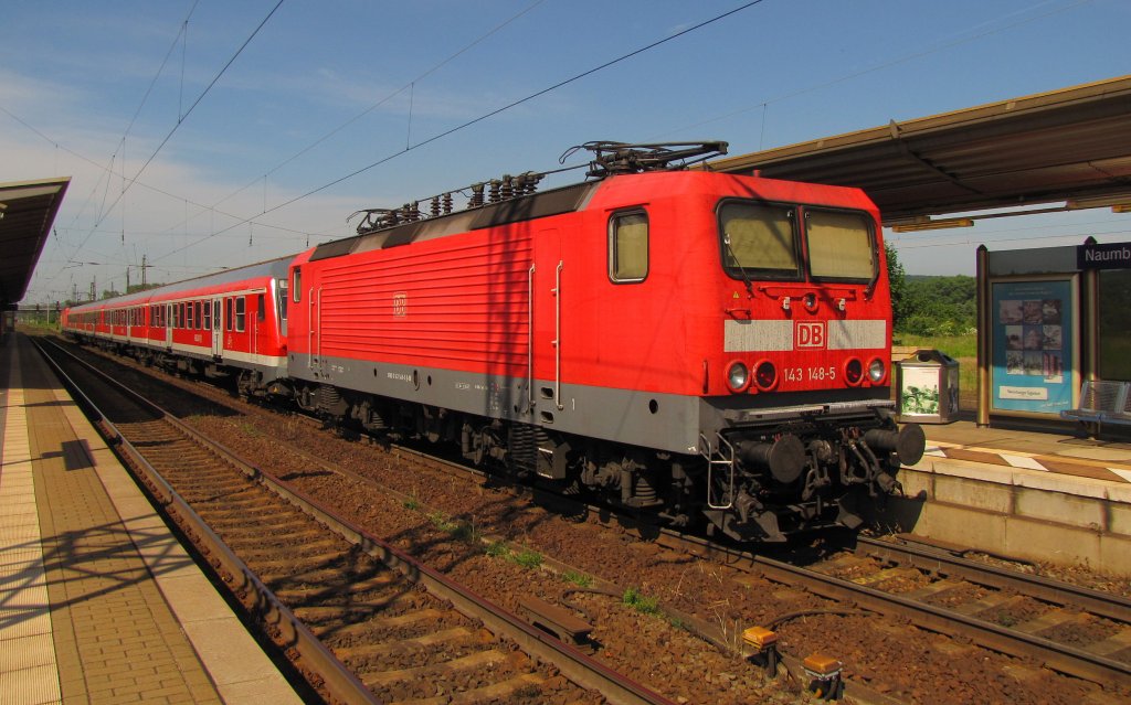
<path id="1" fill-rule="evenodd" d="M 860 211 L 802 210 L 750 201 L 725 201 L 719 207 L 723 268 L 735 279 L 800 281 L 802 252 L 814 281 L 870 281 L 878 258 L 871 219 Z M 801 240 L 804 237 L 804 250 Z"/>

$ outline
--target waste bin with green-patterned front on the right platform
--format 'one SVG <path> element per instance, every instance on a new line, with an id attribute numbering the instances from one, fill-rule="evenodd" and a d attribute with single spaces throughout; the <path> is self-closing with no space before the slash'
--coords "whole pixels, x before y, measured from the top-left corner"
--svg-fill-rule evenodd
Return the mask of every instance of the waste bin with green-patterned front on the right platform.
<path id="1" fill-rule="evenodd" d="M 958 360 L 918 350 L 896 363 L 900 421 L 949 424 L 958 416 Z"/>

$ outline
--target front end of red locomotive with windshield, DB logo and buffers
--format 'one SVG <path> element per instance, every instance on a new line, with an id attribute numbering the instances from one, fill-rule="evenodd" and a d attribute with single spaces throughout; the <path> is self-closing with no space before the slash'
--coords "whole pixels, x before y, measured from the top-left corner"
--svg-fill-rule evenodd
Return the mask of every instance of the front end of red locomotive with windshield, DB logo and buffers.
<path id="1" fill-rule="evenodd" d="M 762 198 L 716 208 L 724 374 L 702 404 L 705 513 L 740 540 L 855 528 L 863 507 L 900 490 L 899 464 L 925 444 L 891 414 L 874 207 L 849 190 L 749 186 Z"/>

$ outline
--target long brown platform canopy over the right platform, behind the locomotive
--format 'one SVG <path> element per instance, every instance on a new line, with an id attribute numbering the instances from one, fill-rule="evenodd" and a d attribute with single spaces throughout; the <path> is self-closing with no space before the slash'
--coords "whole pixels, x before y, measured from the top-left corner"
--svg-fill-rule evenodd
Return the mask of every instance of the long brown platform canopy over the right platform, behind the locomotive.
<path id="1" fill-rule="evenodd" d="M 1033 203 L 1131 203 L 1131 76 L 715 160 L 860 186 L 884 225 Z"/>

